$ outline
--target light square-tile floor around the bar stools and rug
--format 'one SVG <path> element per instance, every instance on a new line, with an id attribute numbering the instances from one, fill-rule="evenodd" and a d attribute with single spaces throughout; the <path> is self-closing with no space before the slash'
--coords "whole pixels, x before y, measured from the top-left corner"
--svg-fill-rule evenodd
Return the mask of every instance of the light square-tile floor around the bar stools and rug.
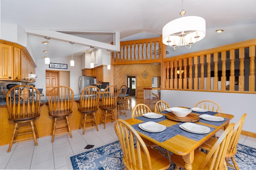
<path id="1" fill-rule="evenodd" d="M 128 111 L 130 113 L 130 111 Z M 129 119 L 128 114 L 120 115 L 120 119 Z M 68 169 L 66 156 L 86 152 L 86 145 L 94 145 L 94 148 L 117 141 L 114 131 L 114 123 L 99 125 L 99 131 L 86 130 L 82 135 L 82 129 L 72 131 L 72 138 L 63 135 L 54 138 L 51 136 L 38 139 L 38 146 L 34 146 L 34 140 L 14 143 L 11 152 L 7 153 L 8 145 L 0 147 L 0 169 Z M 217 136 L 222 132 L 218 132 Z M 239 143 L 256 148 L 256 138 L 241 135 Z"/>

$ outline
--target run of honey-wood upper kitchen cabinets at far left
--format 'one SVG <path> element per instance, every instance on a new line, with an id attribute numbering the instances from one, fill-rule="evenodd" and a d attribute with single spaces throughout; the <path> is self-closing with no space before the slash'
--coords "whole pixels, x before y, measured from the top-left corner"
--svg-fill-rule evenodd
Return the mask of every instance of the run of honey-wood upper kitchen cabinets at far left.
<path id="1" fill-rule="evenodd" d="M 0 40 L 0 80 L 34 82 L 36 64 L 21 45 Z"/>

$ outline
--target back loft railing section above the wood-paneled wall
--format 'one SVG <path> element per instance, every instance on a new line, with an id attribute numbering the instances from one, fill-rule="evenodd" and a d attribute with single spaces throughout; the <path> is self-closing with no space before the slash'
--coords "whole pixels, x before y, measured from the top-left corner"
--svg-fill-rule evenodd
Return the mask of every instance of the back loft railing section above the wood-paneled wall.
<path id="1" fill-rule="evenodd" d="M 160 63 L 161 38 L 121 41 L 120 52 L 112 52 L 112 65 Z"/>

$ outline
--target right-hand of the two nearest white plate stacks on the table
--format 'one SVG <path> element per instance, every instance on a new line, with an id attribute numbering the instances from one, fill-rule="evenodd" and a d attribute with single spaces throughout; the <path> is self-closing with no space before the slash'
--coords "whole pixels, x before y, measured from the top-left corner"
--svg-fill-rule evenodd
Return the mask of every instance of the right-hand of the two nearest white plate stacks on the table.
<path id="1" fill-rule="evenodd" d="M 185 131 L 192 132 L 192 133 L 208 133 L 210 132 L 210 127 L 198 125 L 196 123 L 186 122 L 180 125 L 180 128 L 182 128 Z"/>

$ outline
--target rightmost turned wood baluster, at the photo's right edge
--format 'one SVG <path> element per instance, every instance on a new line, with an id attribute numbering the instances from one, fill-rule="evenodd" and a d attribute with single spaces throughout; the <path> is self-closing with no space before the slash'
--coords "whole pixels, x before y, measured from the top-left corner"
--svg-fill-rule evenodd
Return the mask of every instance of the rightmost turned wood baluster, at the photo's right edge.
<path id="1" fill-rule="evenodd" d="M 249 75 L 249 91 L 254 92 L 255 90 L 255 46 L 249 47 L 250 57 L 250 75 Z"/>

